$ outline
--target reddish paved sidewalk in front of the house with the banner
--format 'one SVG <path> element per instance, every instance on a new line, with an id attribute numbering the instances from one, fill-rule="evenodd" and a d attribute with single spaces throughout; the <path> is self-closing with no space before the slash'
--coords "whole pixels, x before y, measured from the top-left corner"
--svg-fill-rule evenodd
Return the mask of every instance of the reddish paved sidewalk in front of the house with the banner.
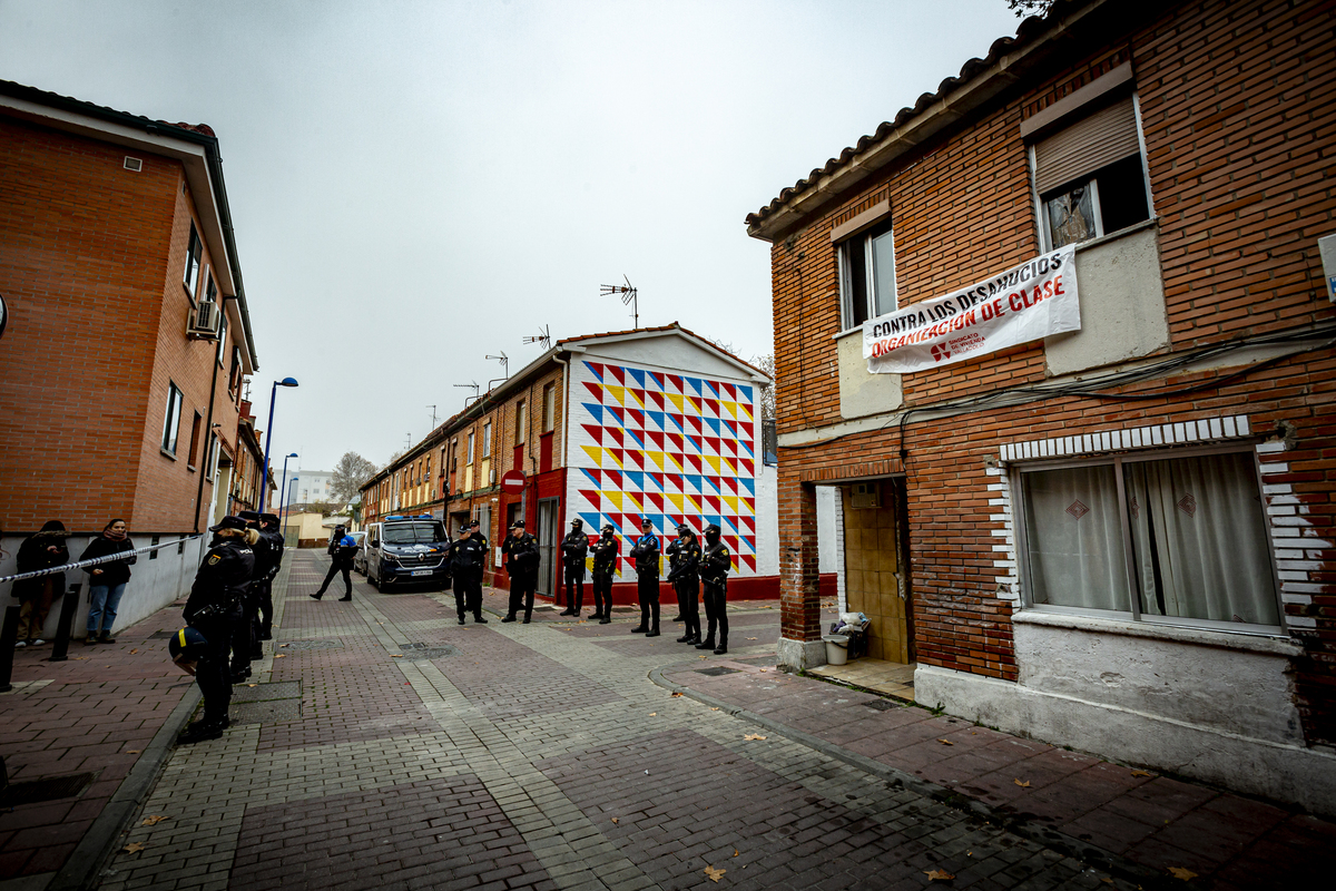
<path id="1" fill-rule="evenodd" d="M 1305 887 L 1297 883 L 1325 884 L 1321 876 L 1336 850 L 1331 822 L 779 672 L 774 659 L 716 660 L 705 669 L 679 664 L 653 676 L 697 701 L 1124 875 L 1174 875 L 1218 891 Z"/>

